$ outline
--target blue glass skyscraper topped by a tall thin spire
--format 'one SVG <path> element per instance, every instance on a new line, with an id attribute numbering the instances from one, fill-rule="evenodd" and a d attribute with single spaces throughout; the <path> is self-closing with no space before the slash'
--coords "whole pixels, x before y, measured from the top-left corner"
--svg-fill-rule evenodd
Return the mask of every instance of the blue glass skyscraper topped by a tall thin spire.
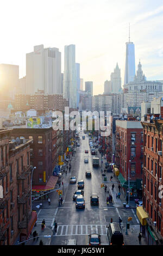
<path id="1" fill-rule="evenodd" d="M 135 45 L 130 42 L 130 29 L 129 41 L 126 42 L 126 65 L 124 74 L 124 84 L 134 81 L 135 77 Z"/>

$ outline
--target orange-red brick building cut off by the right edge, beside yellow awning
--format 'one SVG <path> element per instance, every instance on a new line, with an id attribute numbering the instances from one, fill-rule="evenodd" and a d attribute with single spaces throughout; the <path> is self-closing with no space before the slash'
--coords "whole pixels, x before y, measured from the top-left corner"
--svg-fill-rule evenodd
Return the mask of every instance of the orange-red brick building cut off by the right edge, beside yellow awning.
<path id="1" fill-rule="evenodd" d="M 143 209 L 148 214 L 147 225 L 144 233 L 148 245 L 162 245 L 163 243 L 163 204 L 161 199 L 162 179 L 162 132 L 163 120 L 159 117 L 147 115 L 147 121 L 142 121 L 143 126 Z"/>

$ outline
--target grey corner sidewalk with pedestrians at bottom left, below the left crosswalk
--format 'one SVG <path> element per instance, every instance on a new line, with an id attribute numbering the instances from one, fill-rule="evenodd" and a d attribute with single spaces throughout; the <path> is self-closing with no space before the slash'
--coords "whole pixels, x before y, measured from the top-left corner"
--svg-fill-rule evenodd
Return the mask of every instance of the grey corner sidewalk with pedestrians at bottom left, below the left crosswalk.
<path id="1" fill-rule="evenodd" d="M 45 224 L 46 225 L 46 224 Z M 33 227 L 32 230 L 32 234 L 33 232 L 36 230 L 38 236 L 44 236 L 44 235 L 52 235 L 53 231 L 51 228 L 49 227 L 45 227 L 45 229 L 42 231 L 41 230 L 41 225 L 36 225 L 36 227 Z M 29 239 L 33 238 L 33 235 L 29 236 Z M 28 242 L 26 242 L 26 245 L 39 245 L 40 240 L 42 240 L 43 245 L 49 245 L 51 243 L 51 238 L 47 238 L 47 237 L 38 237 L 37 239 L 34 240 L 30 240 Z"/>

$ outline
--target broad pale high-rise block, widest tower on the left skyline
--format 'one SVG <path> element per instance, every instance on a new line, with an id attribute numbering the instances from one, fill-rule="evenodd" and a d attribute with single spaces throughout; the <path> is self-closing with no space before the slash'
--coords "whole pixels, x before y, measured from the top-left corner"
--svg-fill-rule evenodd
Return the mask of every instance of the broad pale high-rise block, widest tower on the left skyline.
<path id="1" fill-rule="evenodd" d="M 61 94 L 61 52 L 58 48 L 34 46 L 26 54 L 27 94 L 44 90 L 46 94 Z"/>

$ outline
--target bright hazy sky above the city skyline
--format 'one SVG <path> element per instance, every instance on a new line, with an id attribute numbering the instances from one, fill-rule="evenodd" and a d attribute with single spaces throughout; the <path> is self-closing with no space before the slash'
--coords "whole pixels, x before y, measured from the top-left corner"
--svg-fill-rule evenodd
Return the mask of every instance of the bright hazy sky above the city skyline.
<path id="1" fill-rule="evenodd" d="M 76 45 L 80 78 L 93 81 L 93 95 L 104 92 L 116 63 L 122 85 L 130 23 L 147 80 L 163 80 L 162 0 L 5 0 L 1 1 L 0 63 L 20 66 L 26 75 L 26 53 L 34 45 L 57 47 L 64 71 L 64 46 Z"/>

